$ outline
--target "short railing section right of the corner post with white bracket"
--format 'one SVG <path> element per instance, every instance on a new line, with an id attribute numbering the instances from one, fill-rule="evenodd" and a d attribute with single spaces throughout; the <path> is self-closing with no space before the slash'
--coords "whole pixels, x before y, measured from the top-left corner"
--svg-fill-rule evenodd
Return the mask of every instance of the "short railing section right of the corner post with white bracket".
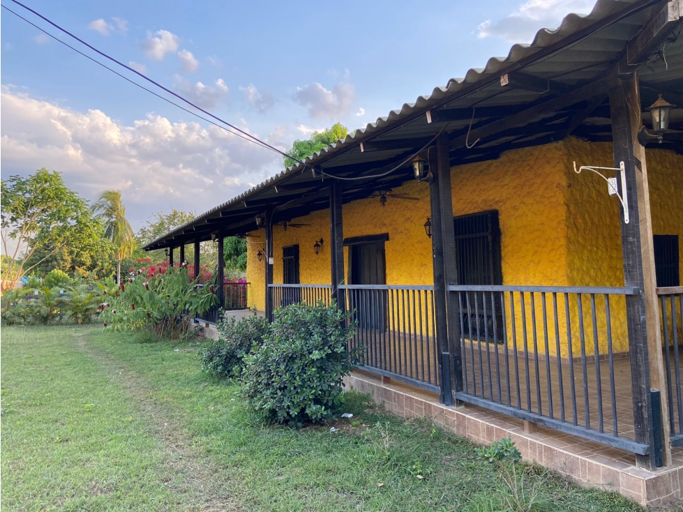
<path id="1" fill-rule="evenodd" d="M 683 396 L 681 357 L 683 357 L 683 287 L 657 288 L 661 319 L 663 361 L 666 370 L 670 439 L 683 445 Z"/>

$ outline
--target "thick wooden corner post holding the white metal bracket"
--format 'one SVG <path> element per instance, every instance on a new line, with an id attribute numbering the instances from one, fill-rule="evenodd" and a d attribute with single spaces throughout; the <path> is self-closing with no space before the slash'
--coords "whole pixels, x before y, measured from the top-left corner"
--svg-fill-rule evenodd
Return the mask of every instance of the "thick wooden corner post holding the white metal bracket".
<path id="1" fill-rule="evenodd" d="M 668 407 L 666 402 L 666 375 L 661 354 L 659 308 L 656 302 L 654 250 L 652 248 L 652 218 L 650 191 L 647 184 L 645 149 L 638 142 L 640 119 L 640 91 L 638 75 L 620 75 L 610 88 L 610 116 L 612 118 L 614 167 L 624 162 L 626 190 L 619 192 L 628 197 L 629 223 L 622 227 L 622 254 L 624 259 L 624 285 L 638 287 L 640 295 L 626 296 L 626 315 L 631 358 L 631 387 L 633 396 L 633 423 L 636 441 L 650 445 L 650 454 L 636 455 L 640 467 L 654 469 L 654 428 L 651 388 L 661 391 L 663 421 L 664 464 L 670 465 Z M 621 213 L 621 209 L 620 209 Z"/>

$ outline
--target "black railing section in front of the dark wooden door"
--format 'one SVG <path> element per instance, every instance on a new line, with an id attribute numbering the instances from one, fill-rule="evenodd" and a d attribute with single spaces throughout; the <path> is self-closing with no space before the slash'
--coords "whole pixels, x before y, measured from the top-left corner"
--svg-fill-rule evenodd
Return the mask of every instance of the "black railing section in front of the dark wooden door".
<path id="1" fill-rule="evenodd" d="M 434 292 L 431 286 L 343 285 L 356 321 L 350 348 L 363 369 L 439 391 Z"/>

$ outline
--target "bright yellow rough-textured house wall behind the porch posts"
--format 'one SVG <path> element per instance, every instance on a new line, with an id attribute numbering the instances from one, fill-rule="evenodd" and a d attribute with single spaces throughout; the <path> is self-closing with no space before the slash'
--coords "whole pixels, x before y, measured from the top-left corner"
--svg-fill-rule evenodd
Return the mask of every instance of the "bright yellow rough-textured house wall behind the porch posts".
<path id="1" fill-rule="evenodd" d="M 453 167 L 451 184 L 453 215 L 460 216 L 486 210 L 499 212 L 501 230 L 502 277 L 504 285 L 599 285 L 622 286 L 622 253 L 618 201 L 607 193 L 606 183 L 590 172 L 578 175 L 578 165 L 611 167 L 611 144 L 589 144 L 573 138 L 545 146 L 504 153 L 498 160 Z M 652 222 L 655 234 L 678 234 L 683 240 L 683 157 L 669 151 L 648 150 L 647 168 L 652 198 Z M 419 201 L 388 198 L 380 206 L 378 198 L 363 199 L 343 206 L 345 238 L 370 234 L 389 234 L 386 249 L 386 283 L 389 285 L 430 285 L 433 283 L 430 239 L 423 223 L 429 215 L 429 189 L 425 183 L 410 181 L 394 190 L 418 197 Z M 329 284 L 329 211 L 292 219 L 308 226 L 299 229 L 273 229 L 275 258 L 274 282 L 282 283 L 282 248 L 299 244 L 301 283 Z M 313 243 L 324 239 L 320 255 Z M 256 258 L 257 247 L 263 247 L 264 232 L 250 237 L 247 278 L 251 283 L 249 304 L 264 309 L 264 265 Z M 680 250 L 683 258 L 683 250 Z M 348 250 L 345 251 L 348 261 Z M 683 260 L 681 262 L 683 269 Z M 509 300 L 509 299 L 508 299 Z M 536 324 L 541 329 L 540 298 L 536 301 Z M 552 296 L 548 296 L 548 307 Z M 530 303 L 527 327 L 530 329 Z M 576 300 L 570 301 L 571 315 L 576 319 Z M 615 352 L 626 350 L 624 301 L 614 299 L 612 306 Z M 519 313 L 520 303 L 516 301 Z M 560 322 L 558 336 L 562 356 L 567 356 L 564 299 L 558 299 Z M 604 304 L 597 303 L 598 326 L 603 332 Z M 584 304 L 588 322 L 585 330 L 590 338 L 590 301 Z M 548 309 L 548 317 L 552 310 Z M 516 324 L 521 333 L 521 321 Z M 578 331 L 575 320 L 570 325 Z M 510 331 L 511 325 L 508 324 Z M 555 327 L 550 321 L 550 353 L 555 355 Z M 539 338 L 542 339 L 542 336 Z M 518 340 L 521 348 L 521 341 Z M 529 343 L 532 343 L 530 333 Z M 600 339 L 601 352 L 606 340 Z M 573 355 L 578 355 L 578 344 Z M 592 352 L 592 349 L 590 349 Z"/>

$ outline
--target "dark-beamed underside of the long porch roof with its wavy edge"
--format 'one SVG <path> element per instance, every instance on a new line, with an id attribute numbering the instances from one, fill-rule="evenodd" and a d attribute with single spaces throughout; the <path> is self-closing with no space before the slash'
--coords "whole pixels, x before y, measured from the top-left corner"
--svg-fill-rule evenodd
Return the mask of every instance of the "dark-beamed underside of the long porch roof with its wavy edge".
<path id="1" fill-rule="evenodd" d="M 674 2 L 675 5 L 676 2 Z M 145 250 L 179 246 L 253 231 L 255 217 L 274 209 L 273 220 L 290 220 L 327 209 L 329 195 L 321 172 L 345 181 L 343 201 L 368 197 L 412 179 L 412 167 L 382 178 L 444 130 L 451 141 L 451 165 L 498 158 L 504 151 L 559 141 L 568 135 L 594 142 L 611 141 L 608 77 L 636 68 L 643 120 L 658 93 L 683 107 L 683 36 L 681 19 L 654 50 L 629 66 L 636 38 L 666 0 L 599 0 L 586 17 L 570 14 L 556 30 L 541 29 L 531 45 L 514 45 L 508 57 L 493 58 L 483 69 L 452 79 L 430 96 L 405 104 L 234 199 L 152 241 Z M 683 0 L 677 8 L 683 18 Z M 629 42 L 631 42 L 629 44 Z M 673 110 L 670 130 L 658 149 L 683 154 L 683 108 Z M 470 126 L 471 125 L 471 126 Z M 467 137 L 468 130 L 470 132 Z M 469 143 L 480 139 L 472 149 Z M 314 172 L 315 170 L 315 172 Z"/>

